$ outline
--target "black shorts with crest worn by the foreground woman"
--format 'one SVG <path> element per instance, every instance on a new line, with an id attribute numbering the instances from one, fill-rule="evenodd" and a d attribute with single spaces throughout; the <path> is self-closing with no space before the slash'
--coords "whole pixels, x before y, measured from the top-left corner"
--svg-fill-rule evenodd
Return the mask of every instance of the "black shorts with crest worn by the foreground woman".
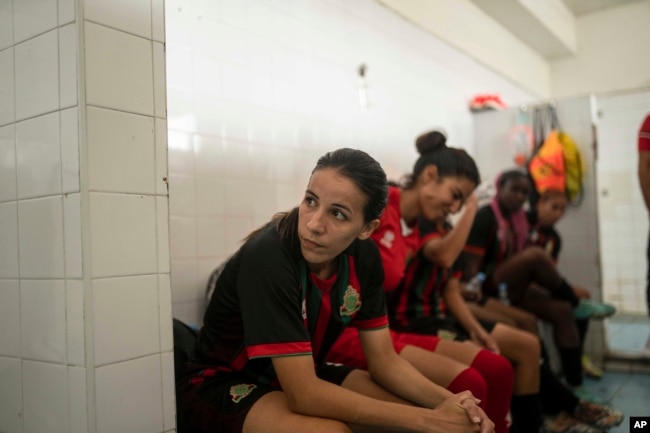
<path id="1" fill-rule="evenodd" d="M 340 385 L 353 368 L 327 364 L 316 374 L 322 380 Z M 196 377 L 194 378 L 196 382 Z M 177 429 L 183 433 L 241 433 L 253 405 L 277 387 L 255 383 L 237 373 L 192 378 L 176 386 Z"/>

